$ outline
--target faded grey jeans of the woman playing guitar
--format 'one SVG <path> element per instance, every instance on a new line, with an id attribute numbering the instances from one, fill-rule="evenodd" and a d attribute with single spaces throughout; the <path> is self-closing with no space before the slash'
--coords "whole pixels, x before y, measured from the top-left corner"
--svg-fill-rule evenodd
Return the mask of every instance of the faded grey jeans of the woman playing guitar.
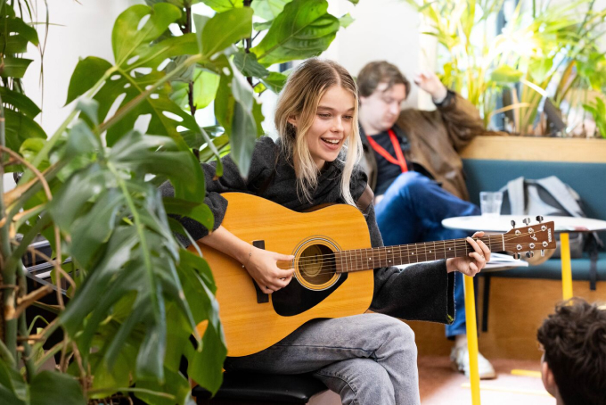
<path id="1" fill-rule="evenodd" d="M 265 351 L 227 358 L 225 369 L 314 373 L 343 404 L 420 403 L 414 332 L 376 313 L 316 319 Z"/>

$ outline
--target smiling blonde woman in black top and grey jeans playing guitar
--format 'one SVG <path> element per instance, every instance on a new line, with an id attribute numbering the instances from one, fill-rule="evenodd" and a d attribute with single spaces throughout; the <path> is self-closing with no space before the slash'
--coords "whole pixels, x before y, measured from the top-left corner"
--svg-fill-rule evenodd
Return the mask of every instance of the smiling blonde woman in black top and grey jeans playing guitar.
<path id="1" fill-rule="evenodd" d="M 300 64 L 277 104 L 274 120 L 280 139 L 277 143 L 268 136 L 258 139 L 247 178 L 240 176 L 229 155 L 222 160 L 221 178 L 213 179 L 216 162 L 203 164 L 205 202 L 215 215 L 215 226 L 209 234 L 199 223 L 183 218 L 184 227 L 195 240 L 240 261 L 263 293 L 288 285 L 294 269 L 280 269 L 278 261 L 293 256 L 258 249 L 222 227 L 227 201 L 221 194 L 257 194 L 293 211 L 324 203 L 356 206 L 367 182 L 356 166 L 362 150 L 357 109 L 356 83 L 347 70 L 318 59 Z M 163 194 L 171 192 L 169 185 L 163 186 Z M 373 247 L 381 246 L 372 203 L 364 218 Z M 490 250 L 479 239 L 468 237 L 467 242 L 473 248 L 467 257 L 405 270 L 374 269 L 375 313 L 311 320 L 264 351 L 228 357 L 225 369 L 313 373 L 339 393 L 344 404 L 420 403 L 414 333 L 397 318 L 452 322 L 453 272 L 474 276 L 490 258 Z"/>

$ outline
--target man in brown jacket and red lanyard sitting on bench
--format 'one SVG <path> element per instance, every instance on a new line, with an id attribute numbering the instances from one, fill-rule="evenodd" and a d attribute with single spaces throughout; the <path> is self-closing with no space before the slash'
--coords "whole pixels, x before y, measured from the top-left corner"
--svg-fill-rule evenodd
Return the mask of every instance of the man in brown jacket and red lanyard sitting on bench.
<path id="1" fill-rule="evenodd" d="M 432 96 L 437 111 L 400 111 L 410 83 L 389 62 L 368 63 L 357 76 L 364 169 L 376 195 L 385 245 L 463 238 L 467 233 L 442 227 L 442 219 L 479 214 L 466 201 L 458 154 L 484 130 L 479 113 L 433 73 L 419 75 L 415 82 Z M 463 277 L 455 277 L 455 322 L 446 326 L 446 336 L 455 340 L 454 367 L 469 376 Z M 479 375 L 496 377 L 481 354 Z"/>

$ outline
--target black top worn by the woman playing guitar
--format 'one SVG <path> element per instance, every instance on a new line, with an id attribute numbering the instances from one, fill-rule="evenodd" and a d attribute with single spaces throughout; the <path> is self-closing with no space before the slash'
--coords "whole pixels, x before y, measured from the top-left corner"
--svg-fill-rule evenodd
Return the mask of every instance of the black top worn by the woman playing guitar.
<path id="1" fill-rule="evenodd" d="M 255 145 L 248 178 L 242 178 L 229 155 L 222 158 L 223 176 L 214 180 L 217 162 L 202 163 L 206 179 L 206 197 L 215 216 L 213 230 L 221 225 L 227 210 L 227 201 L 221 193 L 241 192 L 256 194 L 283 205 L 293 211 L 307 209 L 323 203 L 344 203 L 340 195 L 340 178 L 343 162 L 326 162 L 318 184 L 312 191 L 311 202 L 298 195 L 295 170 L 283 155 L 280 145 L 269 136 L 262 136 Z M 354 169 L 350 189 L 355 200 L 362 195 L 367 178 L 360 168 Z M 160 186 L 163 196 L 173 196 L 170 183 Z M 300 194 L 300 193 L 299 193 Z M 373 247 L 383 246 L 373 204 L 364 212 Z M 199 222 L 186 217 L 178 218 L 194 240 L 209 234 Z M 189 239 L 178 236 L 187 246 Z M 220 271 L 220 269 L 213 269 Z M 451 323 L 455 317 L 454 273 L 446 272 L 446 260 L 414 264 L 405 269 L 396 267 L 374 269 L 374 293 L 371 310 L 393 317 Z"/>

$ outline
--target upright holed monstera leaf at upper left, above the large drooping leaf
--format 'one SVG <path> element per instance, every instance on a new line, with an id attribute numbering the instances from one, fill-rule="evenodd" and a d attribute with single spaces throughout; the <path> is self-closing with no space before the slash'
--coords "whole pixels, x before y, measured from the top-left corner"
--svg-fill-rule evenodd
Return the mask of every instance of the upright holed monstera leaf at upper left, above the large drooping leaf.
<path id="1" fill-rule="evenodd" d="M 121 108 L 132 103 L 148 87 L 162 79 L 165 73 L 158 70 L 160 63 L 177 55 L 197 54 L 198 45 L 193 34 L 170 37 L 154 43 L 180 15 L 181 11 L 176 6 L 166 3 L 155 4 L 153 9 L 146 5 L 135 5 L 122 12 L 112 34 L 115 65 L 95 57 L 78 62 L 70 80 L 67 103 L 105 78 L 103 86 L 94 95 L 94 100 L 99 103 L 98 120 L 102 122 L 106 120 L 112 106 Z M 148 20 L 138 29 L 143 18 Z M 177 145 L 186 148 L 177 128 L 198 131 L 198 125 L 190 114 L 170 100 L 169 90 L 168 85 L 159 88 L 114 123 L 107 132 L 108 145 L 114 145 L 121 136 L 134 128 L 139 117 L 149 116 L 151 120 L 146 132 L 171 136 Z"/>

